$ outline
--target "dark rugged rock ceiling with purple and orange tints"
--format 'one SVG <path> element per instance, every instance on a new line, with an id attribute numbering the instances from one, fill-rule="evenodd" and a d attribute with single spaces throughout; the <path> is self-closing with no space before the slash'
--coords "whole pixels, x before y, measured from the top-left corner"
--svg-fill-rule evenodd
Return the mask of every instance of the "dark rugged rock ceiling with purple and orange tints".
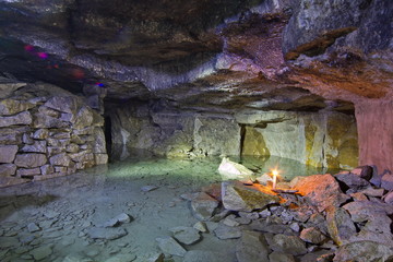
<path id="1" fill-rule="evenodd" d="M 392 99 L 392 17 L 391 0 L 0 0 L 0 73 L 108 102 L 346 111 Z"/>

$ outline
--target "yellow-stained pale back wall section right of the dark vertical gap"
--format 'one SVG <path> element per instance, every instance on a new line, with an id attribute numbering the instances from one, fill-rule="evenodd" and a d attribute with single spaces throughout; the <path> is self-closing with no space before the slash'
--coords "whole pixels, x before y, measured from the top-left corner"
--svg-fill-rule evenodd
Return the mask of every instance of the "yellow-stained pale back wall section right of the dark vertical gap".
<path id="1" fill-rule="evenodd" d="M 236 120 L 245 126 L 243 155 L 274 155 L 318 167 L 358 165 L 354 116 L 246 110 L 236 114 Z"/>

